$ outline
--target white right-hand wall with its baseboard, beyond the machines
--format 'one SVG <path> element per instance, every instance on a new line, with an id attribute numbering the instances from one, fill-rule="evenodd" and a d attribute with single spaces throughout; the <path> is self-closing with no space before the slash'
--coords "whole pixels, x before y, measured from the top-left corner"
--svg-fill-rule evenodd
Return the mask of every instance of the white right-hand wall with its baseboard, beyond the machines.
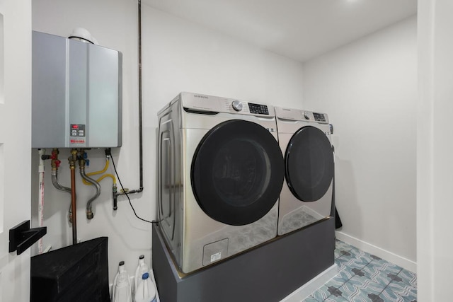
<path id="1" fill-rule="evenodd" d="M 338 238 L 415 272 L 416 18 L 304 64 L 304 108 L 327 112 Z"/>

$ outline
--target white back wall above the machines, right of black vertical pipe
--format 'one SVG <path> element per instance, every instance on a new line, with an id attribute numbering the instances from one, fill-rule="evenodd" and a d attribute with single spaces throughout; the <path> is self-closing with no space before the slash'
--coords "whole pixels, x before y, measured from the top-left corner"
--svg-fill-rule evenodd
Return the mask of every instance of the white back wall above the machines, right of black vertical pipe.
<path id="1" fill-rule="evenodd" d="M 149 127 L 180 91 L 268 104 L 302 103 L 302 64 L 143 6 L 143 83 Z"/>

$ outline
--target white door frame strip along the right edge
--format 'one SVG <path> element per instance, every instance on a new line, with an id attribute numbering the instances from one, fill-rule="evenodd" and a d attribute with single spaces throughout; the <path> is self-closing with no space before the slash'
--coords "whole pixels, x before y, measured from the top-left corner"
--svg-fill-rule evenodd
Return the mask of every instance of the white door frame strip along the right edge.
<path id="1" fill-rule="evenodd" d="M 453 37 L 450 0 L 418 1 L 417 300 L 451 300 Z"/>

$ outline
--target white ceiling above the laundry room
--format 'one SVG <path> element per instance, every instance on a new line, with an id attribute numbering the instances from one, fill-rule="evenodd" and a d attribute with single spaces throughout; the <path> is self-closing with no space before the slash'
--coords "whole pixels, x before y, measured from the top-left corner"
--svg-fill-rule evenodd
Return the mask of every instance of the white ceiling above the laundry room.
<path id="1" fill-rule="evenodd" d="M 417 0 L 142 0 L 304 62 L 413 16 Z"/>

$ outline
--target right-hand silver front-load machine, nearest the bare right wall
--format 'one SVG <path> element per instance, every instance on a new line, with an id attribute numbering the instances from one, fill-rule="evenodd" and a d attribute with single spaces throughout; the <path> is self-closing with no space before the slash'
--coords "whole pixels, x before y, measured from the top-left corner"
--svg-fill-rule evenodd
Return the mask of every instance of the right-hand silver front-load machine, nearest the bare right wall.
<path id="1" fill-rule="evenodd" d="M 285 183 L 280 193 L 278 235 L 331 215 L 333 149 L 323 113 L 275 107 Z"/>

